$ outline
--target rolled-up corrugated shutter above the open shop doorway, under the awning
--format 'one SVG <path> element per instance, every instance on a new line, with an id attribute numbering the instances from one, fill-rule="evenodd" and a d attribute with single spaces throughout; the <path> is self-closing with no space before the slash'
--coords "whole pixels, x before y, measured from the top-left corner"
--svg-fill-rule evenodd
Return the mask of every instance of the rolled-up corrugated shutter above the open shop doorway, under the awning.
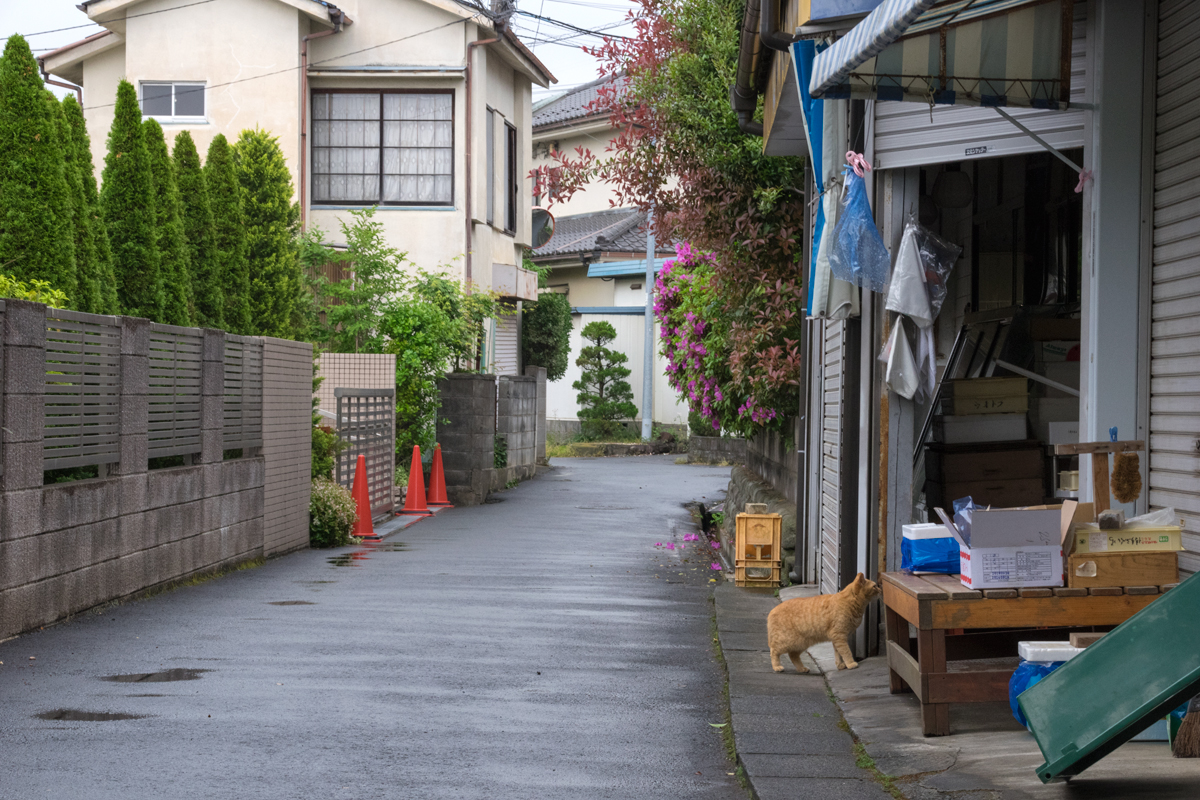
<path id="1" fill-rule="evenodd" d="M 1070 100 L 1087 89 L 1087 2 L 1076 0 L 1072 31 Z M 1084 112 L 1008 108 L 1055 148 L 1084 146 Z M 875 104 L 875 168 L 895 169 L 1038 152 L 1042 146 L 990 108 L 884 102 Z"/>

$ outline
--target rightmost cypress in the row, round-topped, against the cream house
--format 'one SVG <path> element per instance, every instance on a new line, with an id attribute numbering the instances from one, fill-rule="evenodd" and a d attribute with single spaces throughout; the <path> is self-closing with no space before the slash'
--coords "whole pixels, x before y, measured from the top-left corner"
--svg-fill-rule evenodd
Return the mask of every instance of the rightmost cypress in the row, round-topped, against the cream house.
<path id="1" fill-rule="evenodd" d="M 258 128 L 242 131 L 233 149 L 246 221 L 246 264 L 253 333 L 295 337 L 296 303 L 304 291 L 294 246 L 300 207 L 292 201 L 292 173 L 280 140 Z"/>

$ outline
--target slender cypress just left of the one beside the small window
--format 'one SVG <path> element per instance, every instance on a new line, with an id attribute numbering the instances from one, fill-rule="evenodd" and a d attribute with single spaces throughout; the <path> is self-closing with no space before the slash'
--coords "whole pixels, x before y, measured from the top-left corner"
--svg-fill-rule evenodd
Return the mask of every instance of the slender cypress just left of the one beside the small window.
<path id="1" fill-rule="evenodd" d="M 62 118 L 66 122 L 65 138 L 67 168 L 73 167 L 82 192 L 82 222 L 84 229 L 77 231 L 76 267 L 79 284 L 79 311 L 92 314 L 115 314 L 120 309 L 116 301 L 116 282 L 113 278 L 113 254 L 108 246 L 108 228 L 100 211 L 100 193 L 96 188 L 96 168 L 91 161 L 91 138 L 83 119 L 83 108 L 74 95 L 62 100 Z M 83 237 L 83 241 L 78 239 Z"/>

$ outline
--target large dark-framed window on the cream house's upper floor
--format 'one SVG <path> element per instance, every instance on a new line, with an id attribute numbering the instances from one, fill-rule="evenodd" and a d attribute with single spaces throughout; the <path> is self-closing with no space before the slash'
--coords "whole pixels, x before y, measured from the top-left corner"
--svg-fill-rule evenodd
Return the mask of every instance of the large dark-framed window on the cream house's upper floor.
<path id="1" fill-rule="evenodd" d="M 452 205 L 454 95 L 314 92 L 312 201 Z"/>

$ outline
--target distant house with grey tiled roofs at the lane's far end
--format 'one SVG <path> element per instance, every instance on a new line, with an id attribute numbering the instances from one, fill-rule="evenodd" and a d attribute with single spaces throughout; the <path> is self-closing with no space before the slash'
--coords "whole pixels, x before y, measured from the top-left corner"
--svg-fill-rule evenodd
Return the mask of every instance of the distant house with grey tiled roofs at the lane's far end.
<path id="1" fill-rule="evenodd" d="M 616 138 L 608 114 L 595 113 L 592 103 L 598 90 L 612 78 L 601 78 L 558 97 L 538 103 L 533 113 L 534 167 L 551 163 L 551 154 L 574 156 L 576 148 L 604 158 Z M 552 204 L 554 236 L 534 251 L 534 261 L 552 267 L 550 285 L 566 294 L 571 302 L 571 356 L 566 375 L 548 385 L 546 419 L 564 432 L 578 427 L 578 403 L 571 384 L 580 378 L 575 366 L 583 347 L 580 331 L 595 319 L 612 324 L 617 339 L 610 347 L 629 356 L 629 384 L 642 416 L 642 383 L 646 343 L 646 215 L 636 209 L 613 207 L 614 193 L 602 181 L 594 181 Z M 545 201 L 546 198 L 535 198 Z M 544 203 L 545 204 L 545 203 Z M 655 247 L 655 272 L 674 254 L 670 242 Z M 659 425 L 683 426 L 688 404 L 682 402 L 666 379 L 666 361 L 654 342 L 653 420 Z"/>

